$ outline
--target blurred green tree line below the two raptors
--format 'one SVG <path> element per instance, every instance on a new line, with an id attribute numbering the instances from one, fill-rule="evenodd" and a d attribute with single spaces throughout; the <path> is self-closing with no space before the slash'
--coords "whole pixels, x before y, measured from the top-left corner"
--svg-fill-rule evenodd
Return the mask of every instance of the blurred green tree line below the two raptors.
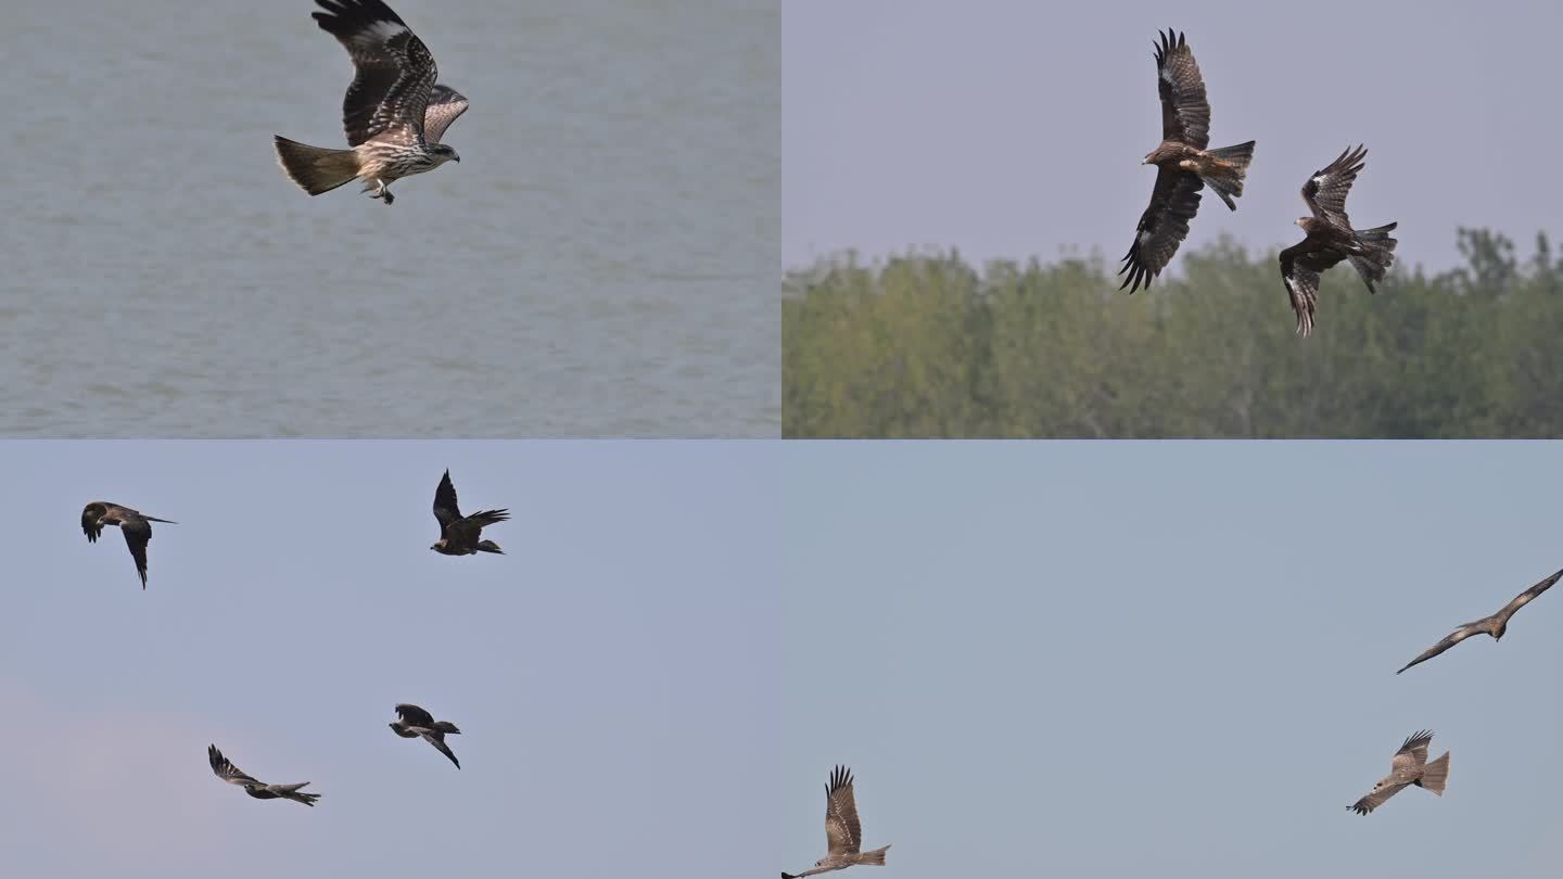
<path id="1" fill-rule="evenodd" d="M 783 435 L 1563 436 L 1563 255 L 1458 246 L 1377 296 L 1332 269 L 1308 338 L 1230 241 L 1135 296 L 1100 258 L 824 260 L 783 277 Z"/>

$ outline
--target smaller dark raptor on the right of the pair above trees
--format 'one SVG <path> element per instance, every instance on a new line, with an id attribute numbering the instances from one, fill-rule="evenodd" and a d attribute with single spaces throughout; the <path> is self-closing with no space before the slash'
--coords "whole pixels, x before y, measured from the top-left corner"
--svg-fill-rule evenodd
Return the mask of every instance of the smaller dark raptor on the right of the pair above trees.
<path id="1" fill-rule="evenodd" d="M 1280 277 L 1286 282 L 1291 310 L 1297 313 L 1297 332 L 1304 336 L 1313 330 L 1321 272 L 1341 260 L 1350 260 L 1368 285 L 1368 292 L 1377 292 L 1374 282 L 1382 282 L 1390 263 L 1394 263 L 1394 246 L 1399 242 L 1390 233 L 1399 224 L 1352 228 L 1352 221 L 1346 216 L 1346 194 L 1352 191 L 1366 155 L 1363 147 L 1347 147 L 1302 185 L 1302 200 L 1313 216 L 1296 221 L 1307 236 L 1280 252 Z"/>

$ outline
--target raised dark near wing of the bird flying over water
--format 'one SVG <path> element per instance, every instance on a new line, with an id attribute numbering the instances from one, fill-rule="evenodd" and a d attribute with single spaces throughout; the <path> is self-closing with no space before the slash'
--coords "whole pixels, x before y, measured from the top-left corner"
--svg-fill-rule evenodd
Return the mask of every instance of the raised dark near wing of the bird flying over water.
<path id="1" fill-rule="evenodd" d="M 353 83 L 342 99 L 347 145 L 372 138 L 416 144 L 424 139 L 428 92 L 439 75 L 424 41 L 381 0 L 316 0 L 320 30 L 353 59 Z"/>

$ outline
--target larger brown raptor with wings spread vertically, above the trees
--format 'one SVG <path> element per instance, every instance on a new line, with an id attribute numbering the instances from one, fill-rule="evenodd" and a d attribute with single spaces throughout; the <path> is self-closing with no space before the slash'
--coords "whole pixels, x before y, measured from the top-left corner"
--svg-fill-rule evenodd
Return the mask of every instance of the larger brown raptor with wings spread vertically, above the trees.
<path id="1" fill-rule="evenodd" d="M 1150 191 L 1150 206 L 1139 216 L 1135 242 L 1124 255 L 1118 274 L 1128 274 L 1122 286 L 1135 292 L 1141 285 L 1150 289 L 1150 278 L 1177 253 L 1188 238 L 1188 222 L 1199 211 L 1199 191 L 1210 186 L 1233 211 L 1233 199 L 1243 194 L 1243 178 L 1254 160 L 1254 141 L 1207 150 L 1210 144 L 1210 102 L 1205 80 L 1183 34 L 1161 34 L 1153 44 L 1157 55 L 1157 89 L 1161 92 L 1161 145 L 1150 150 L 1143 164 L 1157 166 L 1157 185 Z M 1133 286 L 1130 286 L 1133 285 Z"/>

